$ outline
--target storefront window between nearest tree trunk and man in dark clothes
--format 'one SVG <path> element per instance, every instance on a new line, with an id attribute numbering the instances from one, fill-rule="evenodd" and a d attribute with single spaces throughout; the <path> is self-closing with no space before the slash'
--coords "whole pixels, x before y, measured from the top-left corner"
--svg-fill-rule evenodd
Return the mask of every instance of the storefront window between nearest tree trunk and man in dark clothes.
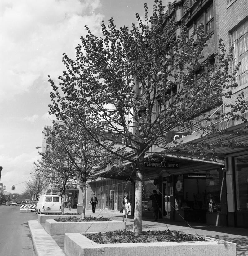
<path id="1" fill-rule="evenodd" d="M 143 181 L 142 183 L 142 211 L 152 210 L 152 201 L 149 200 L 153 190 L 158 190 L 158 185 L 154 185 L 154 180 Z"/>

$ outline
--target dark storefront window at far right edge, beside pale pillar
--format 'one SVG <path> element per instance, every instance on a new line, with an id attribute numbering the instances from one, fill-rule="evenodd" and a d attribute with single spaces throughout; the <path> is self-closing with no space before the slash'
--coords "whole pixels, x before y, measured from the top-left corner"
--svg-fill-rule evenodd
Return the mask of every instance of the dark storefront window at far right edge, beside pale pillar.
<path id="1" fill-rule="evenodd" d="M 248 211 L 248 159 L 246 156 L 235 158 L 235 180 L 237 210 Z"/>

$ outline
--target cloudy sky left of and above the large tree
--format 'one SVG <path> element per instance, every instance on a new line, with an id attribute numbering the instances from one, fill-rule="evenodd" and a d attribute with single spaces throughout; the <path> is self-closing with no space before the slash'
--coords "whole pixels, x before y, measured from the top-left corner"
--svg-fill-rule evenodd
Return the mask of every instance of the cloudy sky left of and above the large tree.
<path id="1" fill-rule="evenodd" d="M 62 54 L 74 59 L 85 25 L 100 36 L 101 21 L 111 17 L 117 28 L 136 24 L 144 2 L 152 10 L 152 0 L 0 1 L 0 183 L 8 192 L 23 193 L 34 172 L 35 147 L 54 119 L 48 75 L 56 81 L 62 74 Z"/>

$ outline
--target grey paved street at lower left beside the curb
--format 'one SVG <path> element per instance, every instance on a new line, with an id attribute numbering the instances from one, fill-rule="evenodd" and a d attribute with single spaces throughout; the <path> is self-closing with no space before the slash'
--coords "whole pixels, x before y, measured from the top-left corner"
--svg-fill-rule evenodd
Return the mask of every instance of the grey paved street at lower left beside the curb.
<path id="1" fill-rule="evenodd" d="M 0 256 L 35 256 L 28 221 L 35 213 L 20 213 L 20 206 L 0 206 Z"/>

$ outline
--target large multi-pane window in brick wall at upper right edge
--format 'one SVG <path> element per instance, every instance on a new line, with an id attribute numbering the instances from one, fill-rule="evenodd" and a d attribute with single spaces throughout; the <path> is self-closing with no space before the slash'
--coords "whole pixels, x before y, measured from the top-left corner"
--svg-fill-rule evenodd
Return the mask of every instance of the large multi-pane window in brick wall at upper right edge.
<path id="1" fill-rule="evenodd" d="M 241 62 L 237 71 L 236 82 L 241 85 L 248 85 L 248 21 L 242 24 L 231 34 L 233 50 L 232 71 L 235 65 Z"/>

